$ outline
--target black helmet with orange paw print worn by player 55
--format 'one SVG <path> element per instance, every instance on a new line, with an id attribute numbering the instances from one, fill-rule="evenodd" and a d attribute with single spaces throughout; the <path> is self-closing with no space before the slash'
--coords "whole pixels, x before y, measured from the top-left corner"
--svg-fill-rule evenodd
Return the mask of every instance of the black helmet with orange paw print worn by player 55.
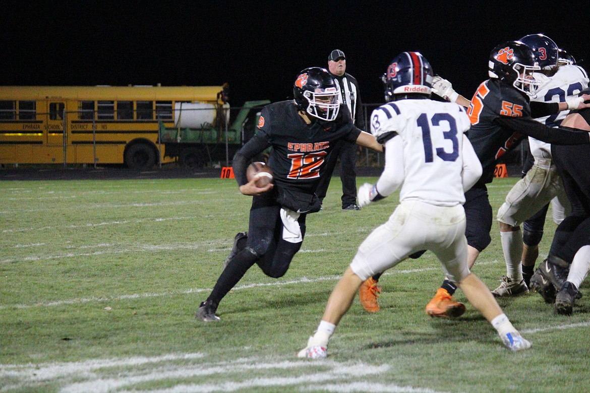
<path id="1" fill-rule="evenodd" d="M 507 41 L 491 51 L 488 63 L 490 78 L 498 78 L 528 95 L 535 95 L 539 82 L 533 72 L 541 67 L 532 49 L 520 41 Z"/>

